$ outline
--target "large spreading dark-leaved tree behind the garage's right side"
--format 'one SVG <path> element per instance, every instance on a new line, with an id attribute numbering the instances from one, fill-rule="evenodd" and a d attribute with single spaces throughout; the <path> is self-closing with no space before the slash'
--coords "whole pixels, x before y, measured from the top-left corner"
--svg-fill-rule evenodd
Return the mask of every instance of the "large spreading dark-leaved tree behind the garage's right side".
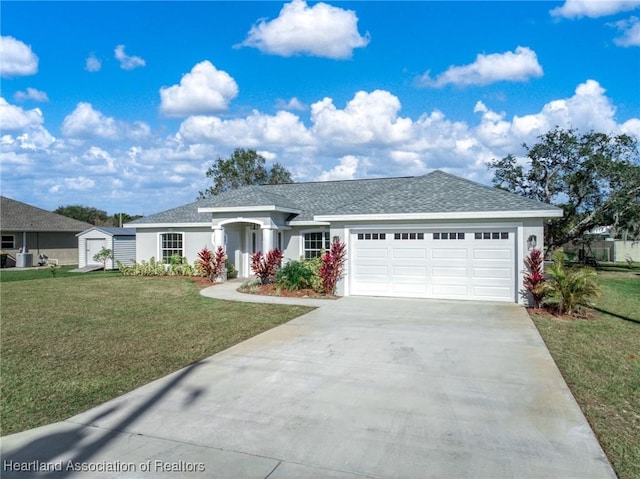
<path id="1" fill-rule="evenodd" d="M 493 183 L 513 193 L 564 210 L 547 222 L 549 249 L 576 240 L 596 227 L 640 239 L 640 160 L 628 135 L 579 134 L 556 127 L 538 137 L 524 159 L 508 155 L 488 163 Z"/>

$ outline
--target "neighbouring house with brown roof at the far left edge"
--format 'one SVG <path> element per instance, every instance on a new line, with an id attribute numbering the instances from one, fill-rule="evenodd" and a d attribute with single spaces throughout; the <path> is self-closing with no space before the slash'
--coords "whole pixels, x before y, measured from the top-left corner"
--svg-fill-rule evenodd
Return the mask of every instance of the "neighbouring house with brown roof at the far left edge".
<path id="1" fill-rule="evenodd" d="M 78 261 L 76 234 L 92 225 L 74 220 L 35 206 L 0 197 L 0 230 L 2 252 L 7 254 L 6 266 L 16 266 L 22 253 L 31 253 L 33 266 L 40 255 L 58 260 L 59 264 L 75 264 Z M 29 266 L 20 263 L 19 266 Z"/>

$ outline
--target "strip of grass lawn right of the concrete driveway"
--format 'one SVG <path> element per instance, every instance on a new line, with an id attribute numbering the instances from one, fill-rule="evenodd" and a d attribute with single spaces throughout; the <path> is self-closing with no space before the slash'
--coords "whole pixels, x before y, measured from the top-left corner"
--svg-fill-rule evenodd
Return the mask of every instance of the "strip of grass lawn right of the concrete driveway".
<path id="1" fill-rule="evenodd" d="M 640 477 L 640 276 L 600 272 L 591 319 L 532 315 L 620 479 Z"/>

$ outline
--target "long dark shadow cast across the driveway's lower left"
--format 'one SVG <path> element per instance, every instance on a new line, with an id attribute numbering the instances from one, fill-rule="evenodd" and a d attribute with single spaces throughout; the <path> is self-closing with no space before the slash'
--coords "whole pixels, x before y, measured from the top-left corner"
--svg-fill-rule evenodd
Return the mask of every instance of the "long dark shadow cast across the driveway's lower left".
<path id="1" fill-rule="evenodd" d="M 154 404 L 162 399 L 167 393 L 169 393 L 174 387 L 184 380 L 189 374 L 191 374 L 202 363 L 194 363 L 184 370 L 180 371 L 176 376 L 169 381 L 162 389 L 156 392 L 148 400 L 142 403 L 139 407 L 131 411 L 126 417 L 124 417 L 119 423 L 115 424 L 110 429 L 100 430 L 102 434 L 95 440 L 83 444 L 88 434 L 86 432 L 87 427 L 91 427 L 96 421 L 113 414 L 119 406 L 113 406 L 106 411 L 103 411 L 96 416 L 89 419 L 87 424 L 79 424 L 77 427 L 65 432 L 50 433 L 45 436 L 38 437 L 24 446 L 9 451 L 7 454 L 2 454 L 2 469 L 0 475 L 4 478 L 27 478 L 27 477 L 41 477 L 46 479 L 59 479 L 64 478 L 72 474 L 77 474 L 78 470 L 73 470 L 73 467 L 68 467 L 70 464 L 88 464 L 89 459 L 104 449 L 111 441 L 116 439 L 123 431 L 126 431 L 127 427 L 133 424 L 141 416 L 145 414 Z M 201 389 L 191 390 L 189 397 L 184 402 L 185 406 L 190 406 L 195 402 L 196 398 L 202 394 Z M 60 459 L 63 457 L 64 459 Z M 100 462 L 100 460 L 98 460 Z M 115 462 L 112 461 L 112 462 Z M 18 471 L 16 467 L 25 467 L 24 464 L 31 463 L 32 467 L 38 466 L 54 469 L 54 466 L 60 465 L 61 470 L 44 470 L 42 472 L 35 473 L 38 469 L 31 469 L 29 471 Z M 14 464 L 13 469 L 8 464 Z M 17 464 L 17 466 L 16 466 Z M 56 468 L 58 469 L 58 468 Z M 42 469 L 40 469 L 42 470 Z"/>

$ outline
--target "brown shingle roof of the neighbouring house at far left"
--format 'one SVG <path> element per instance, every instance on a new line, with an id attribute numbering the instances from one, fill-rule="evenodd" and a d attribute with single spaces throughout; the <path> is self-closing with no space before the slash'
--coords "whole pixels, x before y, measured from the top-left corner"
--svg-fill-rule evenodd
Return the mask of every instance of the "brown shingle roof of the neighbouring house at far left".
<path id="1" fill-rule="evenodd" d="M 69 231 L 78 233 L 93 225 L 51 211 L 0 197 L 0 229 L 3 231 Z"/>

